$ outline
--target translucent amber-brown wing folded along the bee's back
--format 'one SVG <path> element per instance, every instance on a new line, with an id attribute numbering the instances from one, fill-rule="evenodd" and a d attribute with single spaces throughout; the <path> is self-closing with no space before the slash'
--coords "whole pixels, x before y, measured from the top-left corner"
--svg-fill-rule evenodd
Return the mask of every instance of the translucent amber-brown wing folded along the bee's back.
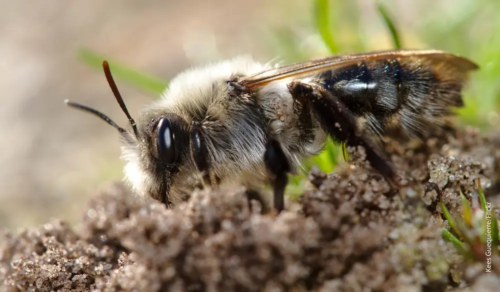
<path id="1" fill-rule="evenodd" d="M 341 68 L 356 64 L 359 61 L 371 61 L 390 58 L 421 58 L 433 65 L 446 64 L 453 66 L 460 72 L 477 69 L 478 66 L 471 60 L 462 56 L 441 50 L 386 50 L 367 53 L 352 53 L 329 56 L 305 62 L 297 62 L 277 68 L 261 71 L 252 76 L 247 76 L 238 81 L 241 88 L 251 90 L 272 81 L 285 78 L 301 78 L 321 73 L 326 70 Z"/>

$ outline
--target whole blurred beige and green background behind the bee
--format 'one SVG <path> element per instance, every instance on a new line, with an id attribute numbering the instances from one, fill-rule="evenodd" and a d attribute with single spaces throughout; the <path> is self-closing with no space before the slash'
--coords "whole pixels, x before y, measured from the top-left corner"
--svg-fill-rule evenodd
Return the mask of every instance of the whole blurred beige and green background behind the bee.
<path id="1" fill-rule="evenodd" d="M 100 69 L 103 58 L 133 116 L 176 72 L 240 53 L 293 62 L 398 45 L 448 50 L 480 66 L 464 92 L 460 124 L 484 130 L 499 125 L 497 0 L 78 0 L 45 4 L 38 14 L 33 0 L 0 3 L 0 16 L 6 16 L 0 19 L 7 19 L 2 27 L 10 32 L 0 48 L 9 48 L 4 59 L 17 60 L 4 65 L 1 86 L 9 99 L 22 100 L 17 111 L 8 106 L 18 109 L 20 101 L 2 100 L 13 117 L 1 123 L 3 136 L 12 138 L 2 148 L 0 226 L 38 224 L 50 216 L 73 221 L 88 196 L 121 179 L 114 129 L 62 105 L 70 98 L 125 122 Z M 24 25 L 14 29 L 12 19 Z M 33 82 L 37 87 L 26 90 Z M 38 138 L 26 140 L 33 136 Z M 325 171 L 337 163 L 345 162 L 331 144 L 307 161 Z M 296 193 L 302 183 L 294 178 L 287 191 Z"/>

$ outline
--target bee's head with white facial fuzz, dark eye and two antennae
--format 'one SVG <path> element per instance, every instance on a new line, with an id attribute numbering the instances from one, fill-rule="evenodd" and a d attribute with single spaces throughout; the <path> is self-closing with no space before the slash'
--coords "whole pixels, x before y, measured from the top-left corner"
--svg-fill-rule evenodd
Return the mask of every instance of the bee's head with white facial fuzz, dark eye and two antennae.
<path id="1" fill-rule="evenodd" d="M 135 193 L 166 204 L 185 199 L 190 189 L 182 185 L 194 185 L 195 177 L 182 177 L 184 183 L 181 184 L 174 185 L 173 181 L 178 178 L 179 172 L 195 173 L 193 163 L 182 163 L 190 160 L 188 125 L 174 113 L 152 111 L 140 116 L 136 123 L 117 89 L 109 64 L 103 61 L 102 66 L 109 86 L 129 120 L 126 127 L 118 126 L 107 115 L 94 108 L 67 99 L 64 102 L 100 117 L 120 132 L 122 158 L 126 161 L 124 172 Z"/>

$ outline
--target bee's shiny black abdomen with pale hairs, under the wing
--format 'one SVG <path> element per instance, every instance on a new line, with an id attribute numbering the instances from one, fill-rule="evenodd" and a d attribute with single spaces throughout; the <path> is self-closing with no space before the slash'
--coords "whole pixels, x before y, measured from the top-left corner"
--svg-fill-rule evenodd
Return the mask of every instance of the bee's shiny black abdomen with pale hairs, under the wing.
<path id="1" fill-rule="evenodd" d="M 382 59 L 325 71 L 317 82 L 356 117 L 421 135 L 448 106 L 463 105 L 460 76 L 418 58 Z"/>

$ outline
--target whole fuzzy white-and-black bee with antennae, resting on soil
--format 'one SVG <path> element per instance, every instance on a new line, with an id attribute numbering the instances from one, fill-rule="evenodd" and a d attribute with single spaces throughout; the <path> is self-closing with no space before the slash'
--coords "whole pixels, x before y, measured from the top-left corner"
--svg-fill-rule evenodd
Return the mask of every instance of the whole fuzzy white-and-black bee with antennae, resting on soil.
<path id="1" fill-rule="evenodd" d="M 477 68 L 440 50 L 340 54 L 281 66 L 240 56 L 179 73 L 135 122 L 103 61 L 129 124 L 65 102 L 119 131 L 124 176 L 138 195 L 170 206 L 196 187 L 270 182 L 279 212 L 287 174 L 299 173 L 302 159 L 320 153 L 328 136 L 364 147 L 370 165 L 399 187 L 384 136 L 423 140 L 448 127 Z"/>

